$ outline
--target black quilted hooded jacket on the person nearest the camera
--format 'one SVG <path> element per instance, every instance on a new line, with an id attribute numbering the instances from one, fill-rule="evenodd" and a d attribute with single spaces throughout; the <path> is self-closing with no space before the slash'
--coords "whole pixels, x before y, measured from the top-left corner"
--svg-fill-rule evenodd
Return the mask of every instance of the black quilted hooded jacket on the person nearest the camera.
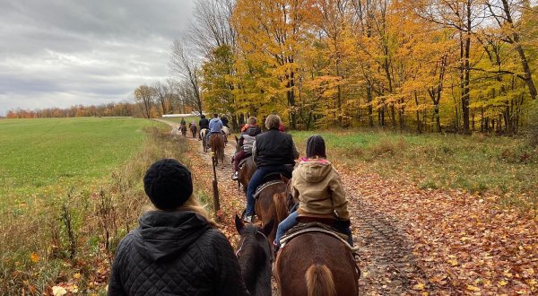
<path id="1" fill-rule="evenodd" d="M 108 295 L 248 295 L 221 231 L 193 212 L 144 213 L 117 246 Z"/>

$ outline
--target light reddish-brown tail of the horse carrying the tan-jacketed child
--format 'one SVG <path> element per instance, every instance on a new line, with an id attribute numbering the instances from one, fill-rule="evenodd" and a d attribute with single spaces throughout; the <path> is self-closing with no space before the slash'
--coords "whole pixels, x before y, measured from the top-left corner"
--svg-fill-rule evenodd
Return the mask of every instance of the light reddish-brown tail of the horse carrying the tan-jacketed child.
<path id="1" fill-rule="evenodd" d="M 334 296 L 333 273 L 325 265 L 313 264 L 305 274 L 308 296 Z"/>

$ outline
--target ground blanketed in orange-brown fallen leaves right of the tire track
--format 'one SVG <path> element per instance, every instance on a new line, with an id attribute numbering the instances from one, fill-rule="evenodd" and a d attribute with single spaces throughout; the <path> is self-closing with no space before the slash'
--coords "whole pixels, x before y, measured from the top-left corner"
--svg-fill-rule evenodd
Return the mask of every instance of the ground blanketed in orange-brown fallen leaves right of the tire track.
<path id="1" fill-rule="evenodd" d="M 391 217 L 408 237 L 426 275 L 410 278 L 412 291 L 538 292 L 538 228 L 532 216 L 497 206 L 498 196 L 421 190 L 404 179 L 344 170 L 341 174 L 348 190 L 358 193 L 373 214 Z"/>

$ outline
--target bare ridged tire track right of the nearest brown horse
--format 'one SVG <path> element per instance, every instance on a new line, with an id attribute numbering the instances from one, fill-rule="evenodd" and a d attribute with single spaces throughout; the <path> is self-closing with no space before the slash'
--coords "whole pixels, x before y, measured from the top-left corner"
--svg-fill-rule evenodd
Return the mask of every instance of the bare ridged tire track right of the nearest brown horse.
<path id="1" fill-rule="evenodd" d="M 351 191 L 361 180 L 342 176 L 348 196 L 353 239 L 360 247 L 360 292 L 365 295 L 407 295 L 417 283 L 428 283 L 427 276 L 412 253 L 412 242 L 394 219 L 378 212 L 365 197 Z M 367 180 L 364 180 L 367 181 Z M 424 290 L 428 288 L 424 286 Z"/>

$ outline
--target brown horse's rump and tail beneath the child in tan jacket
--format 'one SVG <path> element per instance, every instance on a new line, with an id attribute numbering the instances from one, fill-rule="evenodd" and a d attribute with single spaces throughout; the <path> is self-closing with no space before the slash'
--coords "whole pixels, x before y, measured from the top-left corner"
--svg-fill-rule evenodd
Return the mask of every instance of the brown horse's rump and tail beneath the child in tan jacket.
<path id="1" fill-rule="evenodd" d="M 359 294 L 360 271 L 350 250 L 323 232 L 291 239 L 280 249 L 274 272 L 282 296 Z"/>

